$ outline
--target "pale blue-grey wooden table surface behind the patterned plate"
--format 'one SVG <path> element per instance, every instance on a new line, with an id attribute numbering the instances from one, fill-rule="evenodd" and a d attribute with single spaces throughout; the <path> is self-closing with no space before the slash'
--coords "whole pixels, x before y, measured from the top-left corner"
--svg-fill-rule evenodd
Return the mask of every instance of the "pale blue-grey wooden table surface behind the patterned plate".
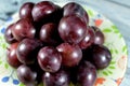
<path id="1" fill-rule="evenodd" d="M 25 1 L 38 2 L 41 0 L 0 0 L 0 25 L 16 12 Z M 86 4 L 109 18 L 122 33 L 128 45 L 128 67 L 120 86 L 130 86 L 130 0 L 52 0 L 78 1 Z M 12 8 L 10 8 L 12 6 Z"/>

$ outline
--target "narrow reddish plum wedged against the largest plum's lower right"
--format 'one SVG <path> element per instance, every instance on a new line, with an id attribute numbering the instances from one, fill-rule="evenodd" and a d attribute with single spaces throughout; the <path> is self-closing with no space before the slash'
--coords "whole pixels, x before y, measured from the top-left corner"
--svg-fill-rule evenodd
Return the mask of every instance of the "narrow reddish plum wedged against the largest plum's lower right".
<path id="1" fill-rule="evenodd" d="M 91 27 L 88 27 L 87 30 L 88 32 L 86 33 L 84 38 L 78 44 L 82 49 L 86 49 L 89 46 L 91 46 L 94 43 L 94 39 L 95 39 L 94 30 Z"/>

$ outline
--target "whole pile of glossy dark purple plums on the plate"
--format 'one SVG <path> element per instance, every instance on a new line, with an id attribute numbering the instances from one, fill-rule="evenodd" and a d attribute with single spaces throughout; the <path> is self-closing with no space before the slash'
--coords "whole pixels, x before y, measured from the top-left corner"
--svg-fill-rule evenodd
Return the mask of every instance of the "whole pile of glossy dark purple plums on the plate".
<path id="1" fill-rule="evenodd" d="M 6 61 L 26 86 L 93 86 L 96 70 L 112 60 L 103 32 L 89 26 L 88 13 L 76 2 L 62 8 L 26 2 L 4 38 L 10 44 Z"/>

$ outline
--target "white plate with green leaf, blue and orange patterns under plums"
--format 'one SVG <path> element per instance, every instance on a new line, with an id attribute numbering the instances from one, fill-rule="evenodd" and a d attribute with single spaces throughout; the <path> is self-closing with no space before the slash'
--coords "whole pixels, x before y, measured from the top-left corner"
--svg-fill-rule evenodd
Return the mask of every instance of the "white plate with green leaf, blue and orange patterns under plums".
<path id="1" fill-rule="evenodd" d="M 62 5 L 60 3 L 60 5 Z M 105 16 L 82 5 L 88 12 L 90 24 L 96 26 L 105 34 L 105 43 L 112 53 L 110 64 L 98 71 L 98 78 L 94 86 L 119 86 L 127 68 L 127 45 L 117 27 Z M 5 28 L 18 19 L 18 13 L 14 14 L 9 20 L 0 26 L 0 86 L 24 86 L 17 78 L 15 69 L 11 68 L 5 60 L 6 42 L 4 41 Z M 42 85 L 39 85 L 42 86 Z"/>

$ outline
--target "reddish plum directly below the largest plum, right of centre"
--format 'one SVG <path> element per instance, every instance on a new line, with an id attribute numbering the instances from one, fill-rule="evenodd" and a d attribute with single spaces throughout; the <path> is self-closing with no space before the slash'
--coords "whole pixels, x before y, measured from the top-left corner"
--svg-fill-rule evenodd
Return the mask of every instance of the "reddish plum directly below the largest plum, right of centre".
<path id="1" fill-rule="evenodd" d="M 62 43 L 56 48 L 62 55 L 62 63 L 65 67 L 78 66 L 82 58 L 82 52 L 78 45 Z"/>

